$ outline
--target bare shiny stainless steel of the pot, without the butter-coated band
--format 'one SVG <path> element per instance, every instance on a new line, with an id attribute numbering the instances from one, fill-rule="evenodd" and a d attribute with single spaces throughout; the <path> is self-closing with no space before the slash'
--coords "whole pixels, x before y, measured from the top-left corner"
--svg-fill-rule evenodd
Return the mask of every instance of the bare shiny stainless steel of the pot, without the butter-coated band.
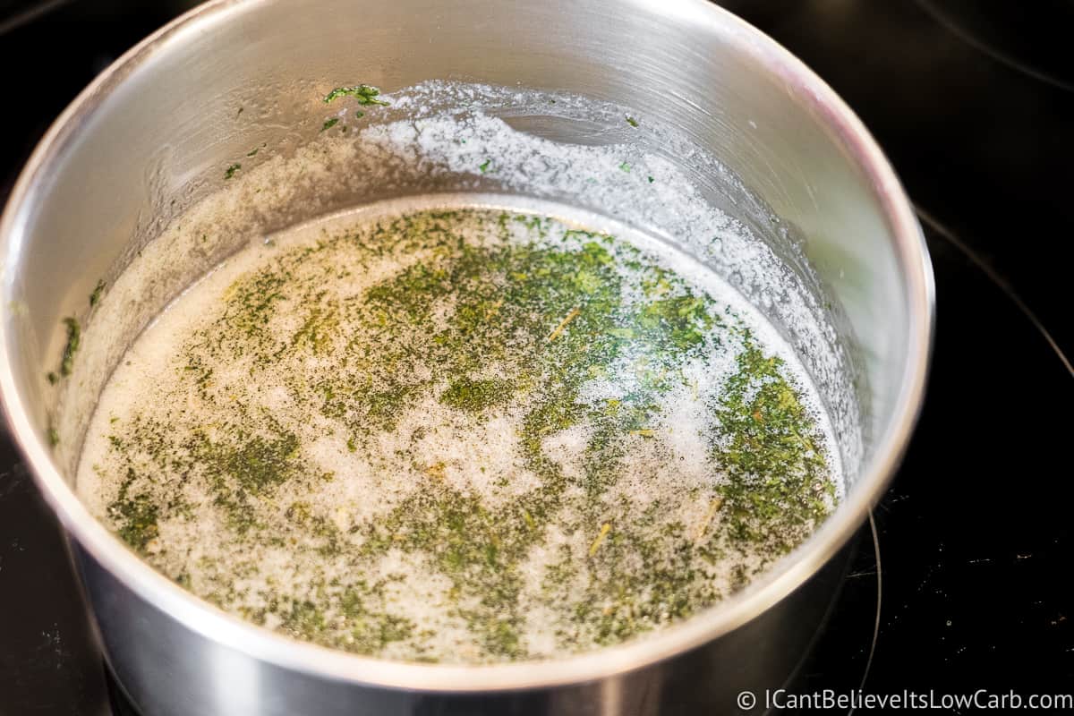
<path id="1" fill-rule="evenodd" d="M 318 90 L 358 81 L 390 91 L 427 78 L 643 104 L 800 230 L 844 308 L 867 379 L 865 462 L 817 534 L 717 609 L 558 661 L 377 661 L 290 641 L 201 602 L 75 497 L 70 465 L 54 457 L 44 432 L 42 366 L 58 351 L 59 319 L 82 311 L 100 276 L 218 187 L 230 158 L 261 142 L 280 151 L 300 144 L 300 128 L 319 117 Z M 253 118 L 242 132 L 232 121 L 238 107 Z M 931 336 L 931 267 L 875 144 L 804 65 L 703 0 L 207 3 L 128 53 L 60 117 L 12 193 L 0 251 L 0 392 L 12 434 L 76 544 L 110 661 L 148 714 L 732 712 L 739 690 L 778 687 L 811 638 L 838 583 L 832 558 L 882 494 L 913 427 Z"/>

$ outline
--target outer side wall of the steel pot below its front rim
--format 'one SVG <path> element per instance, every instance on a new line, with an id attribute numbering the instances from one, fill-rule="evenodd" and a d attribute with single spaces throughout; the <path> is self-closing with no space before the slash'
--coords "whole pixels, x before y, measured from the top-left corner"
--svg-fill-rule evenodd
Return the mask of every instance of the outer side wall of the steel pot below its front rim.
<path id="1" fill-rule="evenodd" d="M 827 613 L 848 555 L 840 553 L 777 609 L 670 660 L 556 686 L 452 692 L 420 681 L 410 689 L 324 681 L 250 658 L 176 623 L 79 556 L 110 663 L 146 716 L 694 716 L 738 713 L 740 691 L 764 693 L 786 683 Z"/>

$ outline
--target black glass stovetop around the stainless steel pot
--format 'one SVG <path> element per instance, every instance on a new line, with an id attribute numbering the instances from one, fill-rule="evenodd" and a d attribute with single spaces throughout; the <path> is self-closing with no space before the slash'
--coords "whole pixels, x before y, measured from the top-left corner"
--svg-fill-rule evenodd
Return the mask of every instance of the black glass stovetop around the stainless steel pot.
<path id="1" fill-rule="evenodd" d="M 0 0 L 3 193 L 75 93 L 190 4 Z M 919 427 L 793 688 L 1074 691 L 1074 4 L 723 4 L 873 131 L 937 273 Z M 0 716 L 128 713 L 110 689 L 60 529 L 0 435 Z"/>

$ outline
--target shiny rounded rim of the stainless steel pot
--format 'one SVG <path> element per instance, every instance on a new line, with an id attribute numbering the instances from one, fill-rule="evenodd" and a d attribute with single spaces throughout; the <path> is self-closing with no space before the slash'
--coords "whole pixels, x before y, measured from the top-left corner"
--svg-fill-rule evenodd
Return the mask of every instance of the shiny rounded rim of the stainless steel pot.
<path id="1" fill-rule="evenodd" d="M 157 30 L 102 72 L 64 109 L 41 140 L 0 218 L 0 255 L 6 271 L 26 235 L 26 208 L 47 189 L 53 163 L 98 109 L 102 98 L 171 43 L 206 31 L 258 0 L 211 0 Z M 15 386 L 8 320 L 0 321 L 0 400 L 12 437 L 29 463 L 46 502 L 77 543 L 140 598 L 202 637 L 277 667 L 373 687 L 416 691 L 503 691 L 592 682 L 647 667 L 710 642 L 758 616 L 804 583 L 854 535 L 879 501 L 902 459 L 924 396 L 934 319 L 932 265 L 920 227 L 894 170 L 850 107 L 774 40 L 707 0 L 632 0 L 648 12 L 676 14 L 731 44 L 779 76 L 798 100 L 834 130 L 880 198 L 909 289 L 910 355 L 894 419 L 854 489 L 802 545 L 745 589 L 682 624 L 615 646 L 545 661 L 488 666 L 422 664 L 348 654 L 301 642 L 247 623 L 203 601 L 157 572 L 95 518 L 49 457 L 40 425 Z M 10 286 L 10 277 L 4 277 Z M 9 318 L 10 320 L 10 318 Z"/>

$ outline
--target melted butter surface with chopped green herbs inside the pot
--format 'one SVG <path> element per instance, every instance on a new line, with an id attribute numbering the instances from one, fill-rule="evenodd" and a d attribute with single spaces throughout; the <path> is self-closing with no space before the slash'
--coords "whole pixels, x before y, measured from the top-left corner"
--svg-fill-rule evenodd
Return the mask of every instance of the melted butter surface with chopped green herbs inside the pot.
<path id="1" fill-rule="evenodd" d="M 789 349 L 549 206 L 376 205 L 232 257 L 135 342 L 77 476 L 158 570 L 384 658 L 553 658 L 712 607 L 831 510 Z"/>

